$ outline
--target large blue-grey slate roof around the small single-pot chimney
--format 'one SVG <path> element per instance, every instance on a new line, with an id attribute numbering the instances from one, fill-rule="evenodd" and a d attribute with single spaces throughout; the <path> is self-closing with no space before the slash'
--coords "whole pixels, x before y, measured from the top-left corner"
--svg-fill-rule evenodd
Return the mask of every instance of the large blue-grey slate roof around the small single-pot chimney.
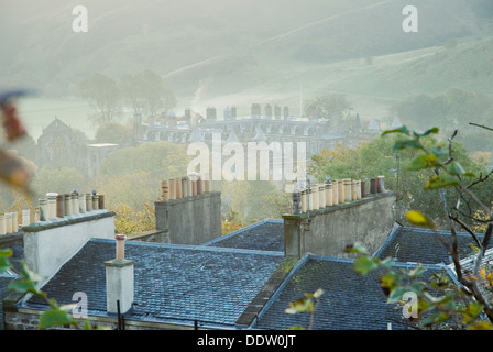
<path id="1" fill-rule="evenodd" d="M 88 312 L 106 311 L 105 261 L 114 241 L 91 239 L 42 288 L 58 304 L 88 297 Z M 134 263 L 135 305 L 125 319 L 234 328 L 234 322 L 284 258 L 282 253 L 127 241 Z M 42 308 L 31 297 L 21 306 Z"/>

